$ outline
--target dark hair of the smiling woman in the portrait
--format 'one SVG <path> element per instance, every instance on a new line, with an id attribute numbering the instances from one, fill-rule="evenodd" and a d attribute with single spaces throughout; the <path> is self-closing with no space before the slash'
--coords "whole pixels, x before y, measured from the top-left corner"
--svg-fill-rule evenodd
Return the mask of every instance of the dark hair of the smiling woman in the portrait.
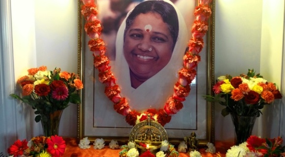
<path id="1" fill-rule="evenodd" d="M 171 37 L 173 39 L 173 50 L 177 41 L 179 30 L 178 17 L 175 8 L 170 3 L 163 0 L 146 0 L 138 4 L 126 19 L 124 38 L 127 30 L 133 24 L 134 19 L 139 14 L 146 14 L 148 12 L 158 13 L 162 17 L 163 22 L 168 25 Z"/>

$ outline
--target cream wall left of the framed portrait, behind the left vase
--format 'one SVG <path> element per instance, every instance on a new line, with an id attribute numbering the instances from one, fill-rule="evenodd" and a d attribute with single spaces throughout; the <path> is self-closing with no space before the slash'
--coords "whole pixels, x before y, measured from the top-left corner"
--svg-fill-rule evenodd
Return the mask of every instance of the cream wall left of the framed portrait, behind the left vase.
<path id="1" fill-rule="evenodd" d="M 30 106 L 11 99 L 32 67 L 77 73 L 77 0 L 1 0 L 0 152 L 17 139 L 42 134 Z M 19 91 L 17 91 L 19 92 Z M 59 135 L 76 137 L 77 105 L 62 114 Z"/>

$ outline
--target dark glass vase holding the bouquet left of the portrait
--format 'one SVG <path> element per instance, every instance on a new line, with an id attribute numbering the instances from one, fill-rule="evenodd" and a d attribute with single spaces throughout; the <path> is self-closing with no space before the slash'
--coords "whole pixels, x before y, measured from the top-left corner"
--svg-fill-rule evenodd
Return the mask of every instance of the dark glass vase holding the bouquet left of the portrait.
<path id="1" fill-rule="evenodd" d="M 52 135 L 58 135 L 62 112 L 63 110 L 57 110 L 53 113 L 45 114 L 45 117 L 47 118 L 41 119 L 44 136 L 50 137 Z"/>

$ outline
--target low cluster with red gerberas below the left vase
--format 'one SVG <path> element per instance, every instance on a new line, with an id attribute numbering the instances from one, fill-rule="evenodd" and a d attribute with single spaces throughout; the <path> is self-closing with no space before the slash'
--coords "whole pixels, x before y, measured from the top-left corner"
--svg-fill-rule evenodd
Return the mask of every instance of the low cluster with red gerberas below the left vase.
<path id="1" fill-rule="evenodd" d="M 18 139 L 7 152 L 12 157 L 60 157 L 64 154 L 65 147 L 61 136 L 37 136 L 30 141 Z"/>

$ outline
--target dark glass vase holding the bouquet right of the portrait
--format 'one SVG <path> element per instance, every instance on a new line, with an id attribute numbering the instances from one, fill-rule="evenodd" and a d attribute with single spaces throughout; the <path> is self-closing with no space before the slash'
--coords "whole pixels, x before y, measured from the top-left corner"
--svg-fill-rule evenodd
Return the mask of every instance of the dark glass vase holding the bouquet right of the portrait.
<path id="1" fill-rule="evenodd" d="M 235 145 L 239 145 L 245 142 L 252 134 L 257 115 L 240 116 L 233 113 L 230 115 L 235 131 Z"/>

